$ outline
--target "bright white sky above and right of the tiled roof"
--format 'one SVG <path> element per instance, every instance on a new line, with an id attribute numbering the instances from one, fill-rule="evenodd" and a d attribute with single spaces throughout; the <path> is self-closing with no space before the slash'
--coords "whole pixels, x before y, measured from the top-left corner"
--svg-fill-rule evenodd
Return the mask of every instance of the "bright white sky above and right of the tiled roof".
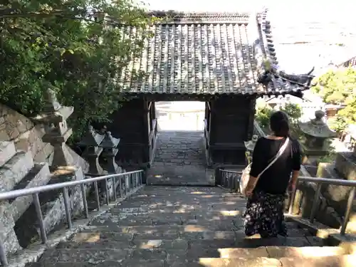
<path id="1" fill-rule="evenodd" d="M 148 9 L 178 11 L 259 11 L 269 9 L 281 68 L 305 72 L 356 56 L 356 1 L 144 0 Z M 310 41 L 306 45 L 290 45 Z M 342 43 L 342 46 L 337 44 Z"/>

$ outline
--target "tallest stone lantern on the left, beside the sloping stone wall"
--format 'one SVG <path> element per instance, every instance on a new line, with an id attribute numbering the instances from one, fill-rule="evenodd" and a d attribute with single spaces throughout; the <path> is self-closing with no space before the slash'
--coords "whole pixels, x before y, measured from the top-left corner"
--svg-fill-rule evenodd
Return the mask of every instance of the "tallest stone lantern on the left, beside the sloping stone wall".
<path id="1" fill-rule="evenodd" d="M 73 157 L 66 147 L 66 141 L 73 131 L 68 128 L 66 120 L 73 113 L 73 107 L 65 107 L 58 103 L 56 93 L 48 89 L 45 94 L 46 106 L 43 112 L 33 120 L 45 125 L 43 142 L 53 145 L 52 167 L 73 165 Z"/>

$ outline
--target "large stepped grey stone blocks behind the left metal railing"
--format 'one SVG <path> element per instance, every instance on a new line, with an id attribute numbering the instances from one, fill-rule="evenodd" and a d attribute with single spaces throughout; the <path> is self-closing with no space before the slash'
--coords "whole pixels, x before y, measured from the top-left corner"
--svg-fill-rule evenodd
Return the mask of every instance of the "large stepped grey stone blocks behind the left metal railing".
<path id="1" fill-rule="evenodd" d="M 45 184 L 83 179 L 81 169 L 53 169 L 47 163 L 34 163 L 31 152 L 16 151 L 14 142 L 0 142 L 0 192 L 38 187 Z M 83 209 L 80 189 L 70 190 L 73 214 Z M 65 218 L 60 192 L 38 194 L 46 232 Z M 0 239 L 6 254 L 16 253 L 39 239 L 39 226 L 32 195 L 0 201 Z"/>

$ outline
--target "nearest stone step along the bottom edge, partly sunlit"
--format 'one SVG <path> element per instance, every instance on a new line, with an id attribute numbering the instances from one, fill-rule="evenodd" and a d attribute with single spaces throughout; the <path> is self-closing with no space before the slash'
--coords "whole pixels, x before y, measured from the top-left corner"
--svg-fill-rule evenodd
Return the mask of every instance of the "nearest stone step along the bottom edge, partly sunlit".
<path id="1" fill-rule="evenodd" d="M 290 248 L 294 249 L 294 248 Z M 217 251 L 219 253 L 219 251 Z M 223 257 L 199 257 L 194 251 L 177 251 L 168 249 L 120 249 L 120 248 L 52 248 L 48 249 L 35 266 L 61 266 L 63 263 L 87 263 L 88 266 L 147 266 L 144 264 L 155 262 L 158 266 L 355 266 L 355 255 L 321 254 L 313 257 L 290 256 L 272 258 L 266 252 L 266 248 L 239 249 L 239 255 L 233 258 Z M 314 263 L 314 264 L 313 264 Z M 316 263 L 316 264 L 315 264 Z M 325 265 L 320 265 L 324 263 Z M 339 265 L 330 265 L 339 263 Z M 340 265 L 340 263 L 342 263 Z M 117 264 L 117 265 L 116 265 Z M 197 265 L 201 264 L 201 265 Z M 298 265 L 297 265 L 298 264 Z M 303 265 L 302 265 L 303 264 Z M 355 263 L 352 263 L 355 264 Z M 62 265 L 63 266 L 63 265 Z M 150 266 L 150 265 L 148 265 Z"/>

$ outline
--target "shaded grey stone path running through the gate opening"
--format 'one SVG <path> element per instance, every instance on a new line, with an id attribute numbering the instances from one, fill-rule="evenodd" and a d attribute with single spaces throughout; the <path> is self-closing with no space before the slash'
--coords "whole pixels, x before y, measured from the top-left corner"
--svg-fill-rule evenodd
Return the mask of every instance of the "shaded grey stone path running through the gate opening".
<path id="1" fill-rule="evenodd" d="M 215 185 L 214 170 L 206 168 L 203 132 L 158 132 L 157 151 L 147 184 Z"/>

